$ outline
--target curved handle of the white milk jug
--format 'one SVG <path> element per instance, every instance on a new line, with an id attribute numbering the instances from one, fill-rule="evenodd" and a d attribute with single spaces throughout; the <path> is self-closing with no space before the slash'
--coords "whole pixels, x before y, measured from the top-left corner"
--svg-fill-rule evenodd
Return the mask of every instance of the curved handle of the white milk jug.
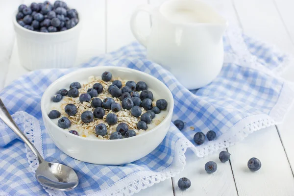
<path id="1" fill-rule="evenodd" d="M 145 47 L 147 47 L 148 36 L 144 35 L 142 31 L 139 30 L 136 18 L 139 12 L 147 12 L 151 16 L 153 10 L 154 10 L 154 7 L 152 5 L 149 5 L 149 4 L 139 5 L 131 16 L 131 21 L 130 21 L 131 31 L 133 35 L 135 36 L 135 38 L 140 42 L 140 44 L 142 44 Z"/>

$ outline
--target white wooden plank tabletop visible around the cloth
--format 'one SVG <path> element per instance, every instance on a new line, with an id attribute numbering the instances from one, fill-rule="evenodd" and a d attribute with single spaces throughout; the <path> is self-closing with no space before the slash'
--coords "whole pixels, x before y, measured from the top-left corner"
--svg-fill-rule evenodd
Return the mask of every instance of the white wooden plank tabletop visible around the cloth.
<path id="1" fill-rule="evenodd" d="M 109 52 L 134 40 L 129 28 L 132 11 L 139 4 L 159 5 L 163 0 L 68 0 L 79 8 L 84 26 L 77 64 Z M 21 3 L 31 0 L 1 0 L 0 6 L 0 89 L 27 73 L 20 66 L 11 18 Z M 244 32 L 294 54 L 294 0 L 215 0 L 214 6 Z M 294 81 L 294 68 L 283 75 Z M 188 151 L 185 170 L 164 182 L 141 191 L 137 196 L 294 196 L 294 109 L 285 122 L 248 136 L 229 147 L 231 162 L 218 164 L 218 171 L 207 174 L 204 164 L 216 161 L 218 153 L 198 159 Z M 258 157 L 262 168 L 249 172 L 247 161 Z M 188 177 L 192 186 L 180 191 L 177 181 Z"/>

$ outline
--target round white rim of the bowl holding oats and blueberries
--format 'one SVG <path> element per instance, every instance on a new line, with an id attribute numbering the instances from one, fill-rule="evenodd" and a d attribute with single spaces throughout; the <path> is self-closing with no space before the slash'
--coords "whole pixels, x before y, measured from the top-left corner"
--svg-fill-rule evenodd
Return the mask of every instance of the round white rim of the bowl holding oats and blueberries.
<path id="1" fill-rule="evenodd" d="M 45 92 L 43 93 L 43 96 L 42 96 L 42 99 L 41 99 L 41 111 L 43 113 L 43 111 L 47 114 L 46 110 L 45 110 L 45 95 L 48 94 L 47 92 L 49 91 L 50 88 L 52 88 L 53 86 L 55 86 L 60 80 L 62 80 L 64 77 L 69 77 L 71 75 L 75 75 L 76 73 L 81 73 L 85 70 L 95 70 L 95 69 L 103 69 L 103 68 L 108 68 L 108 69 L 122 69 L 122 70 L 128 70 L 128 71 L 131 71 L 131 72 L 134 72 L 134 73 L 138 73 L 138 74 L 143 74 L 147 77 L 150 77 L 152 78 L 154 81 L 156 81 L 157 83 L 161 83 L 167 90 L 168 90 L 168 96 L 171 100 L 171 102 L 169 103 L 168 107 L 169 107 L 169 112 L 168 112 L 168 115 L 165 117 L 165 119 L 159 123 L 157 126 L 155 126 L 154 128 L 148 130 L 146 133 L 144 134 L 139 134 L 139 135 L 136 135 L 136 137 L 129 137 L 129 138 L 123 138 L 123 139 L 118 139 L 118 140 L 99 140 L 99 139 L 96 139 L 96 138 L 84 138 L 84 137 L 81 137 L 81 136 L 76 136 L 72 133 L 69 133 L 68 131 L 64 131 L 64 129 L 60 128 L 59 126 L 57 126 L 55 123 L 53 123 L 51 121 L 51 119 L 49 119 L 48 115 L 45 115 L 45 117 L 43 116 L 42 114 L 42 117 L 43 117 L 43 120 L 44 118 L 46 119 L 47 122 L 53 124 L 53 126 L 55 126 L 56 128 L 60 129 L 60 131 L 63 131 L 65 132 L 66 134 L 68 134 L 69 137 L 79 137 L 79 139 L 82 139 L 82 140 L 86 140 L 86 141 L 97 141 L 97 142 L 119 142 L 119 141 L 127 141 L 127 140 L 133 140 L 134 138 L 138 138 L 138 137 L 144 137 L 144 135 L 147 135 L 151 132 L 154 132 L 155 130 L 157 130 L 158 128 L 160 128 L 164 122 L 168 121 L 169 117 L 172 116 L 172 113 L 173 113 L 173 96 L 172 96 L 172 92 L 170 91 L 170 89 L 162 82 L 160 81 L 159 79 L 157 79 L 156 77 L 150 75 L 150 74 L 147 74 L 147 73 L 144 73 L 144 72 L 141 72 L 141 71 L 138 71 L 138 70 L 134 70 L 134 69 L 131 69 L 131 68 L 126 68 L 126 67 L 118 67 L 118 66 L 98 66 L 98 67 L 92 67 L 92 68 L 81 68 L 81 69 L 78 69 L 72 73 L 67 73 L 63 76 L 61 76 L 60 78 L 58 78 L 57 80 L 55 80 L 54 82 L 52 82 L 49 87 L 47 87 L 47 89 L 45 90 Z M 46 127 L 47 128 L 47 127 Z M 47 131 L 47 130 L 46 130 Z"/>

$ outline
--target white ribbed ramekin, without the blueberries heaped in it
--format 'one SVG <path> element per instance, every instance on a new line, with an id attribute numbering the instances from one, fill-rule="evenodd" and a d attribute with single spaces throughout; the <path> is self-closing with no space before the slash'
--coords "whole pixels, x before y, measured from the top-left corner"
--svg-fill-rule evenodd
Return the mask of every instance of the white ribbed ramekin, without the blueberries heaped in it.
<path id="1" fill-rule="evenodd" d="M 19 25 L 13 16 L 20 62 L 28 70 L 69 68 L 74 66 L 82 20 L 73 28 L 43 33 Z"/>

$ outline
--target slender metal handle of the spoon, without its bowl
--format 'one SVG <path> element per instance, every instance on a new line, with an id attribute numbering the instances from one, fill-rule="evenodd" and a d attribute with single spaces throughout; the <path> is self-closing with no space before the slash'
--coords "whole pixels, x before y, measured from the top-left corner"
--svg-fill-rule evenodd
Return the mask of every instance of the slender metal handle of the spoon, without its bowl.
<path id="1" fill-rule="evenodd" d="M 39 160 L 39 163 L 42 163 L 44 159 L 42 158 L 41 154 L 38 152 L 37 148 L 27 139 L 25 134 L 19 129 L 16 123 L 13 121 L 12 117 L 10 116 L 9 112 L 7 111 L 4 103 L 0 99 L 0 119 L 7 124 L 24 142 L 25 144 L 33 151 L 36 157 Z"/>

